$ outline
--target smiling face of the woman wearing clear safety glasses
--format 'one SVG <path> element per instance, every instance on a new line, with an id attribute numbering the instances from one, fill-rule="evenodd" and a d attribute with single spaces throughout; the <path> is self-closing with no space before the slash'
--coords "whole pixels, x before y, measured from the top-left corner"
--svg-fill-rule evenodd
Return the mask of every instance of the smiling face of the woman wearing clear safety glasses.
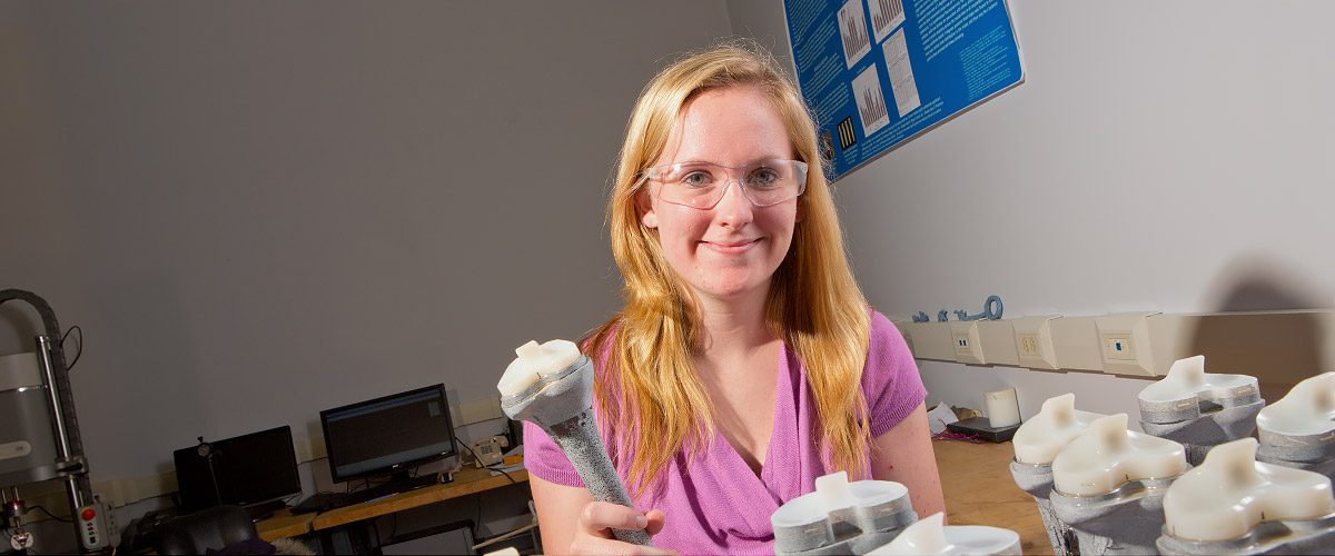
<path id="1" fill-rule="evenodd" d="M 778 111 L 758 89 L 730 87 L 693 99 L 682 111 L 654 167 L 714 163 L 740 167 L 762 159 L 796 159 Z M 732 171 L 729 179 L 744 179 Z M 798 199 L 756 207 L 737 181 L 709 209 L 666 203 L 649 180 L 637 197 L 641 221 L 658 229 L 663 255 L 697 296 L 765 295 L 788 255 Z"/>

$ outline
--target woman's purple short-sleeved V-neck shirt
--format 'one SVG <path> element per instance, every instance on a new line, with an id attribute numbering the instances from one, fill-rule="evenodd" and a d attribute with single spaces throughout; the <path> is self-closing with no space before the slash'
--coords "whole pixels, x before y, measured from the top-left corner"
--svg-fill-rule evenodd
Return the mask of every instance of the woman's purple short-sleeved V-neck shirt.
<path id="1" fill-rule="evenodd" d="M 688 464 L 685 452 L 678 452 L 661 472 L 661 487 L 649 488 L 635 500 L 637 509 L 661 509 L 668 516 L 662 532 L 653 537 L 655 547 L 684 555 L 772 555 L 774 528 L 769 516 L 784 503 L 814 491 L 816 477 L 829 473 L 816 448 L 817 416 L 806 368 L 788 345 L 782 359 L 788 372 L 778 376 L 774 429 L 760 476 L 718 432 L 694 461 Z M 874 311 L 862 396 L 873 437 L 898 424 L 926 397 L 904 337 Z M 551 437 L 531 423 L 523 427 L 529 472 L 551 483 L 583 487 Z M 625 476 L 622 483 L 629 484 Z"/>

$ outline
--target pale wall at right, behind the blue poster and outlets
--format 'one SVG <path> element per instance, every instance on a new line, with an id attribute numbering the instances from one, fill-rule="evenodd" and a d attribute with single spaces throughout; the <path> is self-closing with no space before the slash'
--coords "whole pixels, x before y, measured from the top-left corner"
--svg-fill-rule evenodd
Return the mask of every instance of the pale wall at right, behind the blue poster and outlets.
<path id="1" fill-rule="evenodd" d="M 729 1 L 734 31 L 786 44 L 774 11 Z M 989 295 L 1005 317 L 1335 305 L 1335 4 L 1011 12 L 1024 84 L 837 183 L 873 305 L 904 320 L 979 312 Z M 983 392 L 1015 385 L 1025 419 L 1075 392 L 1077 408 L 1135 423 L 1148 384 L 920 365 L 930 403 L 983 408 Z"/>

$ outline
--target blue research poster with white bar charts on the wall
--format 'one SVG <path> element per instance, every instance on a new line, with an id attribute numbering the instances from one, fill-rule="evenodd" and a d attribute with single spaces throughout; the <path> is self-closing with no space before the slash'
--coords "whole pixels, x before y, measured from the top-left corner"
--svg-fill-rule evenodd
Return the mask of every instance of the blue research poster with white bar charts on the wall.
<path id="1" fill-rule="evenodd" d="M 1004 0 L 784 0 L 834 179 L 1024 83 Z"/>

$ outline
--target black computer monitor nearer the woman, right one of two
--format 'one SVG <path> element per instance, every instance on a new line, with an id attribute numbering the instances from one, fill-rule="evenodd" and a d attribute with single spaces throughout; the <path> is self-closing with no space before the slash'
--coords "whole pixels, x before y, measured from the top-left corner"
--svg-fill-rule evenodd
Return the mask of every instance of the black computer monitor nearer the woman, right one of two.
<path id="1" fill-rule="evenodd" d="M 320 412 L 334 483 L 406 472 L 454 452 L 445 385 Z"/>

